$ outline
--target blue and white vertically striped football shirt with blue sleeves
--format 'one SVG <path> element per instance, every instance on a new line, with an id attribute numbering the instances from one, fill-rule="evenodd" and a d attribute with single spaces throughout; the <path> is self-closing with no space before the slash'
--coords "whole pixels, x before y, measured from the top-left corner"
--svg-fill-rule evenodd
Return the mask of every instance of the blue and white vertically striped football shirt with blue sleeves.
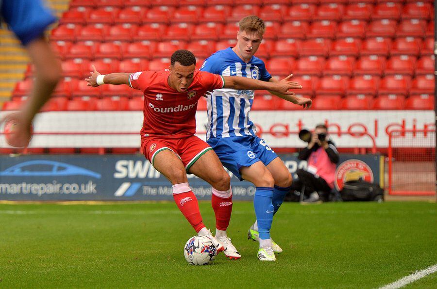
<path id="1" fill-rule="evenodd" d="M 222 76 L 241 76 L 269 81 L 271 75 L 264 62 L 252 56 L 245 63 L 232 48 L 219 50 L 205 60 L 201 70 Z M 231 136 L 255 136 L 256 128 L 249 119 L 254 91 L 217 89 L 208 97 L 208 129 L 206 139 Z"/>

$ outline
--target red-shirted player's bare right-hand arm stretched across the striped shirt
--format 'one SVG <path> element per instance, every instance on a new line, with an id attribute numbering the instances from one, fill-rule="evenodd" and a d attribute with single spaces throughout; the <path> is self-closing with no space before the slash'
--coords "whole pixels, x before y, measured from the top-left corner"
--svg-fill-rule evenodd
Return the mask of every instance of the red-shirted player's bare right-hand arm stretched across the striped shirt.
<path id="1" fill-rule="evenodd" d="M 297 82 L 289 81 L 289 75 L 279 82 L 267 82 L 261 80 L 254 80 L 247 77 L 238 76 L 224 76 L 224 87 L 232 89 L 246 89 L 246 90 L 269 90 L 283 95 L 294 95 L 294 92 L 288 91 L 290 89 L 302 88 Z"/>

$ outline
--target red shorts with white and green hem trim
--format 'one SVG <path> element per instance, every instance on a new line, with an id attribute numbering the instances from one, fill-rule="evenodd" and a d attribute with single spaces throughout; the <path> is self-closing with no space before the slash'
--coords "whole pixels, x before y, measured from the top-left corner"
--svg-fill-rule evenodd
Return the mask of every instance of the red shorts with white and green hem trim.
<path id="1" fill-rule="evenodd" d="M 171 150 L 181 159 L 187 172 L 205 152 L 212 150 L 209 144 L 195 135 L 182 138 L 148 137 L 141 143 L 141 150 L 152 165 L 156 154 L 165 149 Z"/>

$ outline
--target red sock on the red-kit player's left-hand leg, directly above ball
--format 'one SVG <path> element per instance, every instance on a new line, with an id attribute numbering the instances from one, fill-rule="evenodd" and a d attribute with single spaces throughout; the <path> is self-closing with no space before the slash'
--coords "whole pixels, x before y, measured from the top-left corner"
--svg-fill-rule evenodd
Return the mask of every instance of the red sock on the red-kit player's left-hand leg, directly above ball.
<path id="1" fill-rule="evenodd" d="M 205 227 L 203 225 L 202 216 L 199 210 L 199 203 L 192 191 L 185 193 L 174 193 L 174 201 L 176 205 L 184 214 L 188 222 L 193 226 L 197 233 Z"/>

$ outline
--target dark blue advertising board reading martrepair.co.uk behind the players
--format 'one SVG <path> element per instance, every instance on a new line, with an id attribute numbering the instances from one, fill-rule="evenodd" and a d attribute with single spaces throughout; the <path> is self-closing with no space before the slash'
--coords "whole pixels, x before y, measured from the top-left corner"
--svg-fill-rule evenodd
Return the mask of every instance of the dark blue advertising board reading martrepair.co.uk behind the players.
<path id="1" fill-rule="evenodd" d="M 306 161 L 282 154 L 290 173 Z M 381 183 L 379 155 L 341 155 L 336 188 L 353 177 Z M 230 173 L 231 174 L 231 173 Z M 252 200 L 254 186 L 231 174 L 234 200 Z M 210 199 L 211 186 L 188 175 L 195 195 Z M 20 155 L 0 156 L 0 200 L 137 201 L 172 200 L 168 180 L 140 155 Z"/>

